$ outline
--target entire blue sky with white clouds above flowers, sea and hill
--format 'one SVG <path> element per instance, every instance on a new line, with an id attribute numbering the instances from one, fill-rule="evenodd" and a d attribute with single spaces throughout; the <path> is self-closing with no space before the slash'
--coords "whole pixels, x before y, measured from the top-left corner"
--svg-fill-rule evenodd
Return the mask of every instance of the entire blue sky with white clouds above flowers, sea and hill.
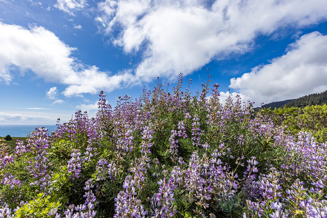
<path id="1" fill-rule="evenodd" d="M 94 115 L 143 85 L 207 79 L 221 100 L 269 103 L 327 90 L 324 0 L 0 0 L 0 123 Z"/>

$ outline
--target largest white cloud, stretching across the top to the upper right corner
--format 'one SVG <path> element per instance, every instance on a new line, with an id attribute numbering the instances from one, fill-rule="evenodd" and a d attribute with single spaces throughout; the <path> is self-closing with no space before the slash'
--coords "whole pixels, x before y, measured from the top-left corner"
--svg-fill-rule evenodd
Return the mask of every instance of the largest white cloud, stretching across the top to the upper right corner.
<path id="1" fill-rule="evenodd" d="M 126 53 L 142 48 L 136 78 L 192 73 L 213 59 L 247 52 L 256 36 L 326 20 L 325 0 L 106 0 L 106 33 Z"/>

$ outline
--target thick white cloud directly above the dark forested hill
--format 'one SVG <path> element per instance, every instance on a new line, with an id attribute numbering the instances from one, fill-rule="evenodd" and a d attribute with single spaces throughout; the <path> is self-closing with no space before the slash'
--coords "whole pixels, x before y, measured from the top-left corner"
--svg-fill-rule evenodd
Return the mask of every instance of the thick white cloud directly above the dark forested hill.
<path id="1" fill-rule="evenodd" d="M 260 105 L 327 90 L 327 36 L 312 32 L 290 44 L 286 54 L 232 78 L 230 88 Z"/>

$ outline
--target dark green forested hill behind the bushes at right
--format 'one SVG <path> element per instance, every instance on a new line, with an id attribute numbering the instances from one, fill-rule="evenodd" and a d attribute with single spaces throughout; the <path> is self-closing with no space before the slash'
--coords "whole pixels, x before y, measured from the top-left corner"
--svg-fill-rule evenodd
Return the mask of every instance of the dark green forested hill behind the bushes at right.
<path id="1" fill-rule="evenodd" d="M 282 108 L 286 106 L 289 107 L 298 107 L 298 108 L 304 108 L 305 106 L 311 106 L 311 105 L 323 105 L 327 104 L 327 90 L 325 92 L 320 93 L 314 93 L 305 95 L 303 97 L 297 98 L 297 99 L 288 99 L 284 101 L 276 101 L 269 104 L 265 104 L 262 107 L 263 108 Z"/>

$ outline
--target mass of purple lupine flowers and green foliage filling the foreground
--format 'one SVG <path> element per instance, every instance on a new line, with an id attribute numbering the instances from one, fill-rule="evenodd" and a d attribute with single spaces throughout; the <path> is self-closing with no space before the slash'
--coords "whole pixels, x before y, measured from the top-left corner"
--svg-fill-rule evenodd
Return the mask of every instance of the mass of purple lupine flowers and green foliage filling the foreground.
<path id="1" fill-rule="evenodd" d="M 100 92 L 96 118 L 3 144 L 0 217 L 326 217 L 326 144 L 210 82 L 183 92 L 180 75 L 114 108 Z"/>

